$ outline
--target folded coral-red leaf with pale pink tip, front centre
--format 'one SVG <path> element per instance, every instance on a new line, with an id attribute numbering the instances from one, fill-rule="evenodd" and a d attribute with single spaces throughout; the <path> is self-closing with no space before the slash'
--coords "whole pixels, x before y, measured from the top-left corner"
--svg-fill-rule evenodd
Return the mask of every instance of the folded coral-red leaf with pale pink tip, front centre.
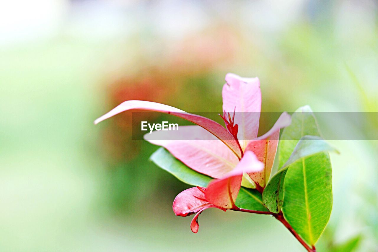
<path id="1" fill-rule="evenodd" d="M 240 190 L 243 173 L 258 173 L 264 168 L 253 152 L 247 151 L 234 170 L 222 179 L 214 179 L 205 191 L 206 200 L 217 207 L 231 209 Z"/>

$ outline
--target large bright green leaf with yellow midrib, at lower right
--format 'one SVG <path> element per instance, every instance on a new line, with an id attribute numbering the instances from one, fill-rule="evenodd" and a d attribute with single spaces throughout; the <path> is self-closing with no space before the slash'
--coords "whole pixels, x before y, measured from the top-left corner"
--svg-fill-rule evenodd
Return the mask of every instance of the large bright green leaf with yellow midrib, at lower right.
<path id="1" fill-rule="evenodd" d="M 332 171 L 328 154 L 302 158 L 287 170 L 283 216 L 309 244 L 314 245 L 332 210 Z"/>

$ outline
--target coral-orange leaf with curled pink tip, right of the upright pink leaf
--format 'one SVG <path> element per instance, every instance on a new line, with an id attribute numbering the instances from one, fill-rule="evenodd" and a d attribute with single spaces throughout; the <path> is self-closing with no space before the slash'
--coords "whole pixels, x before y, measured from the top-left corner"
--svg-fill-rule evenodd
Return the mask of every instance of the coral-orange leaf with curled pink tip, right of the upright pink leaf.
<path id="1" fill-rule="evenodd" d="M 245 151 L 253 151 L 257 159 L 265 165 L 265 169 L 259 173 L 248 173 L 249 177 L 260 187 L 265 187 L 266 182 L 269 180 L 274 157 L 276 156 L 280 129 L 289 126 L 290 123 L 290 115 L 286 112 L 282 113 L 270 131 L 256 140 L 250 141 L 245 148 Z"/>

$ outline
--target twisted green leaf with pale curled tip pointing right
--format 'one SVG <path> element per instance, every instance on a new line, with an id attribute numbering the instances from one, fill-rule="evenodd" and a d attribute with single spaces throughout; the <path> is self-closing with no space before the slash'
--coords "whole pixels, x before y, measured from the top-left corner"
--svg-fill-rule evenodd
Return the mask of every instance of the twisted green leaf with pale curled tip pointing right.
<path id="1" fill-rule="evenodd" d="M 336 151 L 336 149 L 322 138 L 316 136 L 307 135 L 299 140 L 289 160 L 271 178 L 262 194 L 263 202 L 271 212 L 279 213 L 281 210 L 283 203 L 283 181 L 290 165 L 299 159 L 325 151 Z"/>

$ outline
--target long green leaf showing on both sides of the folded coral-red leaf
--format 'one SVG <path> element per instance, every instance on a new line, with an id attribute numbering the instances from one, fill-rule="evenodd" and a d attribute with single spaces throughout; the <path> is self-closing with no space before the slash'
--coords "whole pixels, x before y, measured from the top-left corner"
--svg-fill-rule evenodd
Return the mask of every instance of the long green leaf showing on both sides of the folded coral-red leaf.
<path id="1" fill-rule="evenodd" d="M 184 163 L 176 159 L 163 147 L 155 151 L 150 157 L 150 160 L 163 170 L 177 177 L 177 179 L 189 185 L 207 187 L 209 182 L 213 179 L 184 165 Z M 255 189 L 240 187 L 235 204 L 238 207 L 249 210 L 266 211 L 261 199 L 261 194 Z"/>

